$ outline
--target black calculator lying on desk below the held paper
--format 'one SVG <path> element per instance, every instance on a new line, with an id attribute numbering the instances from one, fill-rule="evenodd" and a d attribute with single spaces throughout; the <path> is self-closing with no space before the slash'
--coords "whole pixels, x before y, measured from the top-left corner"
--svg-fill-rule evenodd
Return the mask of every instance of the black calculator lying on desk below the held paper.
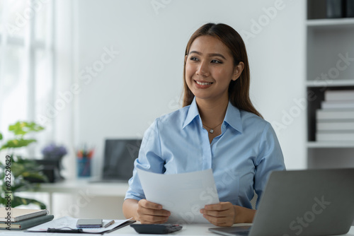
<path id="1" fill-rule="evenodd" d="M 176 224 L 132 224 L 130 227 L 134 228 L 139 234 L 168 234 L 169 232 L 176 232 L 182 229 L 181 225 Z"/>

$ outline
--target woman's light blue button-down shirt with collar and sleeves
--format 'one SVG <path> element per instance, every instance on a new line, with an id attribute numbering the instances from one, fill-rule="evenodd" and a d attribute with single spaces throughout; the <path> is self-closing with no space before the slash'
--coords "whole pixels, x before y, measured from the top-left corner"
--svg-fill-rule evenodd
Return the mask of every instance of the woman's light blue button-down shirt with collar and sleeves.
<path id="1" fill-rule="evenodd" d="M 137 167 L 164 174 L 211 168 L 220 201 L 252 208 L 256 191 L 258 206 L 270 172 L 285 170 L 278 138 L 268 122 L 230 102 L 221 129 L 210 143 L 195 99 L 157 118 L 142 139 L 125 199 L 145 198 Z"/>

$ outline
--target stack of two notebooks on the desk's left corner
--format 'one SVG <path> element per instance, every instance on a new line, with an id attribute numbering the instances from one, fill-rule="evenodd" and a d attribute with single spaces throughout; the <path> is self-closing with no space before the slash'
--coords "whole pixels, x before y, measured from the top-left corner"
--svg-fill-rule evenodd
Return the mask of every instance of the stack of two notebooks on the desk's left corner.
<path id="1" fill-rule="evenodd" d="M 54 218 L 47 210 L 0 208 L 0 230 L 24 230 Z"/>

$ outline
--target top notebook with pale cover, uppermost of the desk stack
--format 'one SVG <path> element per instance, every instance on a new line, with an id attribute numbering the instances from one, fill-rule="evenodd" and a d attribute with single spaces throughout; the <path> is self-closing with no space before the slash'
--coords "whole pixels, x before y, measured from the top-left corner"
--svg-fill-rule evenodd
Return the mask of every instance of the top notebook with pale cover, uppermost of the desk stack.
<path id="1" fill-rule="evenodd" d="M 0 222 L 10 220 L 11 222 L 18 222 L 21 220 L 27 220 L 29 218 L 35 218 L 38 216 L 45 216 L 49 213 L 47 210 L 38 209 L 23 209 L 23 208 L 0 208 Z"/>

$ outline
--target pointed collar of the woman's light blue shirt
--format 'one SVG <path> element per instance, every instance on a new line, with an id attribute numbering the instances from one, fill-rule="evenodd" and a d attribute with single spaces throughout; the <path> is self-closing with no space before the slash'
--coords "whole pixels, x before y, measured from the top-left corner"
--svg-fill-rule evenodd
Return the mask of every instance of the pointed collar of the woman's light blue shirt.
<path id="1" fill-rule="evenodd" d="M 188 110 L 187 117 L 185 117 L 185 121 L 183 123 L 182 129 L 184 129 L 185 126 L 190 124 L 190 122 L 195 119 L 195 117 L 199 117 L 199 111 L 198 111 L 198 106 L 197 102 L 195 101 L 195 98 L 193 98 L 192 103 L 190 103 L 190 107 Z M 200 126 L 202 126 L 202 121 L 199 119 Z M 240 110 L 237 107 L 234 107 L 231 102 L 227 105 L 227 110 L 224 118 L 224 122 L 229 124 L 233 129 L 236 129 L 240 133 L 242 133 L 242 123 L 241 123 L 241 113 Z"/>

